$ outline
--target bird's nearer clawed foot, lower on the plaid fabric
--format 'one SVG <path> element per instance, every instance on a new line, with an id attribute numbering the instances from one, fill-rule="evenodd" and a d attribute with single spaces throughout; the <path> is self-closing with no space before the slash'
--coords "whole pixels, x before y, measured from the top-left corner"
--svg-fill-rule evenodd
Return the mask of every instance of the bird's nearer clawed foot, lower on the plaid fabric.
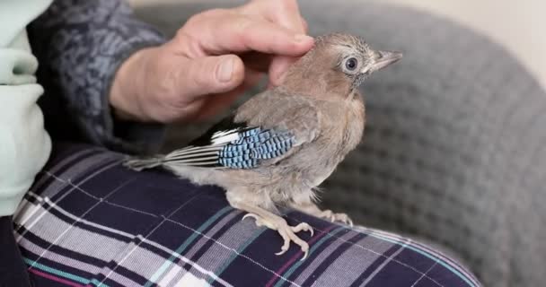
<path id="1" fill-rule="evenodd" d="M 269 215 L 263 217 L 255 213 L 247 213 L 242 217 L 242 220 L 247 217 L 254 218 L 256 220 L 256 225 L 258 226 L 266 226 L 269 229 L 277 230 L 278 234 L 284 239 L 285 243 L 280 248 L 280 251 L 276 253 L 277 256 L 284 254 L 288 248 L 290 248 L 290 242 L 294 242 L 302 248 L 302 252 L 304 252 L 304 257 L 301 260 L 304 260 L 305 257 L 307 257 L 307 254 L 309 253 L 309 244 L 300 239 L 295 233 L 299 231 L 309 231 L 313 237 L 313 228 L 309 224 L 302 222 L 295 226 L 290 226 L 286 220 L 280 216 Z"/>

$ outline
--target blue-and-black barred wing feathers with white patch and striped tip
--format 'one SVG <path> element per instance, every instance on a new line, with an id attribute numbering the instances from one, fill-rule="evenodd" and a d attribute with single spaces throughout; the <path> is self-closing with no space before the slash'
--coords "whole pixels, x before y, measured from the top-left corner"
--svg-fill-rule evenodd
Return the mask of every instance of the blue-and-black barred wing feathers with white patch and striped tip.
<path id="1" fill-rule="evenodd" d="M 260 161 L 285 154 L 294 143 L 290 132 L 242 125 L 227 130 L 213 127 L 194 141 L 197 146 L 171 152 L 164 161 L 199 167 L 252 169 L 258 167 Z"/>

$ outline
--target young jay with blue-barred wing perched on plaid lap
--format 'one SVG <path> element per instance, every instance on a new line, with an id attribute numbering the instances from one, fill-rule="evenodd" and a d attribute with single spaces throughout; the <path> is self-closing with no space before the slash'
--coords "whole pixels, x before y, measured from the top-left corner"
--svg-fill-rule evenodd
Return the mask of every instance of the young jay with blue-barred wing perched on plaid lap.
<path id="1" fill-rule="evenodd" d="M 289 225 L 287 207 L 352 226 L 346 213 L 321 210 L 317 191 L 339 162 L 357 147 L 365 128 L 365 101 L 358 87 L 374 72 L 397 62 L 400 52 L 374 50 L 360 36 L 330 33 L 291 65 L 282 83 L 234 109 L 188 146 L 165 155 L 131 157 L 132 170 L 161 167 L 196 185 L 225 188 L 229 204 L 258 226 L 277 230 L 282 255 L 297 235 L 313 228 Z"/>

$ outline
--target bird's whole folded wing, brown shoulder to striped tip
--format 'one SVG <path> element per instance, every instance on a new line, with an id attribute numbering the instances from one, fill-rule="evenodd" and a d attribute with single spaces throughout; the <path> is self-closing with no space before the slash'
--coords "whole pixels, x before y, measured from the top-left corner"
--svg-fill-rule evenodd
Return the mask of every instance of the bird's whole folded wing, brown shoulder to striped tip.
<path id="1" fill-rule="evenodd" d="M 302 144 L 313 141 L 318 135 L 317 111 L 313 107 L 288 103 L 286 99 L 273 102 L 269 112 L 259 109 L 260 117 L 238 117 L 240 114 L 235 112 L 189 143 L 188 147 L 167 154 L 163 163 L 254 169 L 280 161 Z"/>

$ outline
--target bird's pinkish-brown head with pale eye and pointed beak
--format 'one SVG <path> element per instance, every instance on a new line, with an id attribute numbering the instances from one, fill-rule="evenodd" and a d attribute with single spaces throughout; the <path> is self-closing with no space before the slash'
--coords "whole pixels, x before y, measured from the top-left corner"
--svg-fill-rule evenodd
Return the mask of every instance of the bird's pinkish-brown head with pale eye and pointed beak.
<path id="1" fill-rule="evenodd" d="M 324 35 L 315 39 L 314 48 L 290 68 L 285 84 L 312 91 L 314 95 L 321 92 L 325 96 L 347 95 L 370 74 L 401 57 L 399 52 L 374 50 L 361 37 L 343 33 Z"/>

